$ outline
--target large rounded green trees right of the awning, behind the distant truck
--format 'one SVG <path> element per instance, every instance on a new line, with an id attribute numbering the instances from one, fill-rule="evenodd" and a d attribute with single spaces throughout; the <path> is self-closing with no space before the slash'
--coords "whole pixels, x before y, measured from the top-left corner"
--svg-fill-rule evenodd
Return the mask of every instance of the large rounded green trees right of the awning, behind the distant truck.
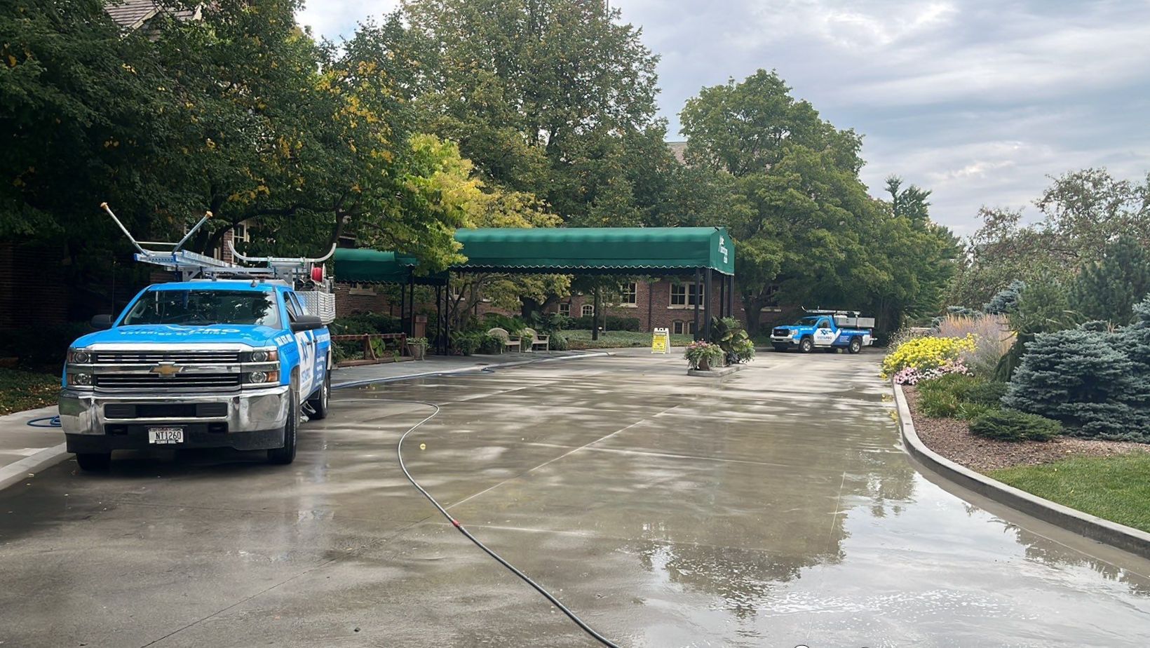
<path id="1" fill-rule="evenodd" d="M 743 307 L 775 303 L 869 310 L 897 329 L 935 312 L 958 252 L 925 216 L 929 192 L 902 181 L 880 203 L 859 181 L 860 138 L 790 96 L 775 73 L 704 87 L 681 114 L 687 159 L 716 177 L 738 247 Z M 751 334 L 758 322 L 749 322 Z"/>

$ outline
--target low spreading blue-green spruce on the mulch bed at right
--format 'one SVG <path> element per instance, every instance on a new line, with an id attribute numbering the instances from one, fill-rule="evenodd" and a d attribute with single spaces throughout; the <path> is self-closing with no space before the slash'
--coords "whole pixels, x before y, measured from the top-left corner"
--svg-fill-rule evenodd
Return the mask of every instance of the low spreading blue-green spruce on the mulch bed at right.
<path id="1" fill-rule="evenodd" d="M 1037 334 L 1003 404 L 1061 421 L 1082 436 L 1150 441 L 1140 376 L 1118 337 L 1097 327 Z"/>

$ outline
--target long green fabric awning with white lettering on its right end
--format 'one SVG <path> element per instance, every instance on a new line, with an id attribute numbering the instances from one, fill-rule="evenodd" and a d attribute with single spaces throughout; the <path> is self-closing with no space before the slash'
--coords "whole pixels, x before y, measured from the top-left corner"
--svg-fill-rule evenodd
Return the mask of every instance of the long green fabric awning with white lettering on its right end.
<path id="1" fill-rule="evenodd" d="M 455 230 L 457 270 L 540 274 L 735 274 L 735 245 L 719 227 L 489 228 Z"/>

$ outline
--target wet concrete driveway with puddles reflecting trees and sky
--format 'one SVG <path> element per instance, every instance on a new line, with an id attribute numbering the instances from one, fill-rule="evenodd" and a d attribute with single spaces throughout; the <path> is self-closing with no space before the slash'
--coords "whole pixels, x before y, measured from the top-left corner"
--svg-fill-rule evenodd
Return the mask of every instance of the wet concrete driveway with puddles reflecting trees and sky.
<path id="1" fill-rule="evenodd" d="M 338 391 L 292 466 L 68 462 L 0 491 L 0 646 L 593 646 L 381 398 L 443 405 L 412 473 L 622 646 L 1150 643 L 1150 565 L 918 473 L 877 358 L 626 352 Z"/>

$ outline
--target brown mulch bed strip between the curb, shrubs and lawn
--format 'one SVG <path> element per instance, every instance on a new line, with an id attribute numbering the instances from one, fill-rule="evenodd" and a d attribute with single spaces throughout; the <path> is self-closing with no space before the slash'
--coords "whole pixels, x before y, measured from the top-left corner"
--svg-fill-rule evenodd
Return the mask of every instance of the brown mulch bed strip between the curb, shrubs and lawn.
<path id="1" fill-rule="evenodd" d="M 935 452 L 964 466 L 987 473 L 1011 466 L 1049 464 L 1068 457 L 1112 457 L 1145 451 L 1144 443 L 1089 441 L 1060 436 L 1052 441 L 995 441 L 971 434 L 966 421 L 933 419 L 919 412 L 918 391 L 903 386 L 906 404 L 914 417 L 914 432 Z"/>

